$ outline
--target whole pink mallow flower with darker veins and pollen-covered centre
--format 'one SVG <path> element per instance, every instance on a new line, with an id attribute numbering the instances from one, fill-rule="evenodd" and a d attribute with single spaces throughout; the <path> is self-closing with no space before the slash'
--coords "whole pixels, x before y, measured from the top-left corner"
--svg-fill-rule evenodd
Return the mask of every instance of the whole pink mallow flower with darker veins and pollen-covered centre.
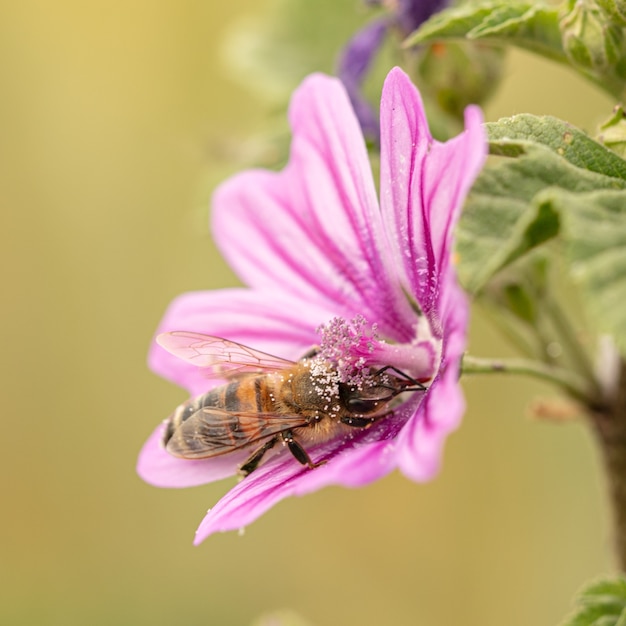
<path id="1" fill-rule="evenodd" d="M 344 87 L 320 74 L 304 80 L 289 110 L 286 167 L 243 172 L 214 195 L 215 240 L 249 287 L 183 294 L 158 333 L 205 333 L 291 360 L 321 345 L 343 381 L 393 366 L 427 390 L 400 394 L 392 412 L 367 428 L 303 445 L 313 462 L 325 461 L 313 469 L 275 446 L 209 510 L 196 544 L 326 485 L 360 487 L 394 469 L 429 480 L 459 424 L 468 302 L 455 273 L 453 230 L 486 158 L 482 116 L 469 107 L 463 133 L 433 140 L 420 95 L 398 68 L 387 76 L 380 108 L 379 202 Z M 156 343 L 149 361 L 192 396 L 224 382 Z M 138 463 L 140 476 L 160 487 L 234 475 L 252 451 L 176 458 L 163 446 L 164 429 L 148 439 Z"/>

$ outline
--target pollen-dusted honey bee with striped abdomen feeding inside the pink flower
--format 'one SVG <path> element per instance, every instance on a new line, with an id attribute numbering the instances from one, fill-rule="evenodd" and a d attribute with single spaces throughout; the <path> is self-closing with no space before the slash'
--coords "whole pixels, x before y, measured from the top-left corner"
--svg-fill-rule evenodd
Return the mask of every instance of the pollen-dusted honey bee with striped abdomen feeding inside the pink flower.
<path id="1" fill-rule="evenodd" d="M 368 428 L 391 413 L 394 398 L 426 387 L 387 366 L 359 384 L 341 382 L 336 367 L 315 351 L 289 361 L 228 339 L 175 331 L 157 342 L 170 353 L 227 382 L 181 404 L 166 422 L 165 449 L 183 459 L 208 459 L 251 448 L 239 467 L 253 472 L 278 442 L 309 468 L 303 444 Z M 322 461 L 323 462 L 323 461 Z"/>

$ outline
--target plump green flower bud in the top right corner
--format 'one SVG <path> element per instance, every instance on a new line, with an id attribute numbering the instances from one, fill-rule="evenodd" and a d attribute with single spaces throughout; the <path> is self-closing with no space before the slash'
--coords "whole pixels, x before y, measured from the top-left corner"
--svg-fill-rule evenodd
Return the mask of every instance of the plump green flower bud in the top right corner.
<path id="1" fill-rule="evenodd" d="M 569 6 L 560 21 L 565 54 L 579 68 L 600 76 L 611 73 L 626 49 L 622 28 L 607 19 L 595 0 L 570 0 Z"/>

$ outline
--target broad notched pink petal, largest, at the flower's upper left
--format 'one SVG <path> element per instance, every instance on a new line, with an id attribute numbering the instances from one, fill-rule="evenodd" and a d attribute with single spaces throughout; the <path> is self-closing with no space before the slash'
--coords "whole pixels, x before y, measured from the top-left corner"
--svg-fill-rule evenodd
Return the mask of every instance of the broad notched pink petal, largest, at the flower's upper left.
<path id="1" fill-rule="evenodd" d="M 216 241 L 247 284 L 280 286 L 335 315 L 359 312 L 388 337 L 407 340 L 410 310 L 389 269 L 367 151 L 343 86 L 309 77 L 290 119 L 282 172 L 245 172 L 216 191 Z"/>

